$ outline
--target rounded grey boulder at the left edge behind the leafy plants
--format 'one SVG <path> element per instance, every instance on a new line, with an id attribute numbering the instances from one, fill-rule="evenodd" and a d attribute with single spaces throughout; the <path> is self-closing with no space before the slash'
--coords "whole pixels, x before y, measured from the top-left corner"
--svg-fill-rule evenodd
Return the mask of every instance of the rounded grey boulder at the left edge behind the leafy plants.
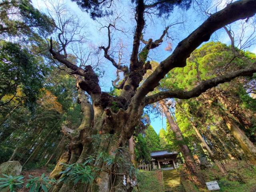
<path id="1" fill-rule="evenodd" d="M 8 161 L 0 165 L 0 177 L 2 174 L 18 176 L 20 175 L 22 166 L 18 161 Z"/>

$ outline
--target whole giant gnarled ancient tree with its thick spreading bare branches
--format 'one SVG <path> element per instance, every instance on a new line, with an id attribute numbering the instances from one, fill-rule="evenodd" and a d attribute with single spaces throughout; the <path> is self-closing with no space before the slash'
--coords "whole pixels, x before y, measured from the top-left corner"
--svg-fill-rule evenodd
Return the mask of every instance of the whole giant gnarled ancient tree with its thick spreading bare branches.
<path id="1" fill-rule="evenodd" d="M 196 30 L 182 40 L 172 54 L 160 62 L 154 72 L 142 82 L 142 77 L 146 71 L 151 69 L 150 62 L 147 60 L 148 53 L 163 42 L 163 38 L 169 29 L 169 26 L 167 26 L 162 36 L 157 40 L 144 40 L 142 36 L 145 27 L 144 14 L 149 9 L 151 11 L 158 10 L 161 6 L 166 7 L 165 12 L 168 13 L 168 11 L 171 11 L 167 9 L 168 6 L 169 8 L 180 6 L 181 2 L 169 0 L 156 1 L 152 4 L 146 4 L 143 0 L 135 2 L 136 28 L 129 65 L 121 64 L 109 54 L 111 46 L 110 29 L 115 28 L 115 24 L 112 23 L 106 26 L 108 29 L 108 44 L 100 46 L 100 49 L 104 52 L 106 60 L 111 62 L 118 72 L 124 74 L 124 78 L 119 80 L 118 84 L 113 82 L 113 86 L 121 90 L 120 96 L 102 92 L 98 74 L 91 65 L 77 66 L 70 61 L 67 46 L 72 40 L 67 39 L 63 32 L 60 32 L 56 39 L 51 38 L 50 53 L 52 57 L 64 64 L 76 76 L 78 101 L 83 114 L 82 124 L 78 129 L 63 128 L 63 132 L 71 139 L 71 142 L 69 151 L 62 155 L 60 162 L 66 164 L 84 163 L 85 159 L 93 154 L 96 155 L 96 158 L 88 161 L 88 165 L 97 173 L 92 183 L 88 182 L 74 186 L 72 181 L 69 180 L 65 184 L 60 183 L 55 186 L 54 191 L 65 192 L 72 188 L 77 190 L 82 188 L 83 191 L 90 191 L 92 187 L 98 187 L 100 192 L 110 190 L 131 191 L 132 184 L 123 185 L 122 181 L 124 176 L 129 177 L 131 181 L 134 180 L 133 175 L 130 174 L 130 166 L 127 165 L 127 160 L 130 157 L 126 146 L 128 146 L 128 140 L 133 135 L 134 129 L 140 123 L 145 106 L 165 98 L 189 99 L 197 97 L 218 84 L 229 82 L 239 76 L 252 76 L 256 72 L 256 67 L 252 63 L 248 68 L 202 81 L 189 91 L 167 90 L 150 94 L 170 70 L 186 66 L 186 59 L 200 44 L 208 41 L 212 33 L 236 20 L 250 18 L 256 12 L 256 0 L 239 0 L 210 15 Z M 186 3 L 188 2 L 183 2 L 183 4 Z M 60 28 L 60 30 L 62 29 Z M 59 46 L 56 46 L 56 42 Z M 139 51 L 140 47 L 142 47 L 141 52 Z M 88 94 L 88 97 L 84 92 Z M 99 137 L 97 140 L 100 142 L 93 145 L 95 136 Z M 102 160 L 102 152 L 108 154 L 114 163 L 107 163 Z M 115 163 L 115 160 L 120 158 L 125 158 L 126 162 Z M 63 169 L 63 165 L 58 163 L 51 176 L 59 178 L 60 175 L 57 173 Z M 196 172 L 193 169 L 192 171 Z"/>

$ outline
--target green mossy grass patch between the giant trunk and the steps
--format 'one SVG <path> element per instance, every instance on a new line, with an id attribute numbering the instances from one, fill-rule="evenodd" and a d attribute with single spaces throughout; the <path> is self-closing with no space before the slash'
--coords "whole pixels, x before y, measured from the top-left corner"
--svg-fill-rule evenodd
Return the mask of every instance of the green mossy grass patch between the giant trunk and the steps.
<path id="1" fill-rule="evenodd" d="M 140 170 L 137 176 L 138 188 L 133 192 L 164 192 L 163 173 L 160 170 Z"/>

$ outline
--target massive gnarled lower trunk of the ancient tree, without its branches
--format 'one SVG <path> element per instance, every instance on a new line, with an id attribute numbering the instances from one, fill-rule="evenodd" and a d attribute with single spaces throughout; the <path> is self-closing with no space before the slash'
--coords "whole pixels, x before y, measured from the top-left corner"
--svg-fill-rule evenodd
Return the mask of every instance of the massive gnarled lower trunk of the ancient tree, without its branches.
<path id="1" fill-rule="evenodd" d="M 126 186 L 122 184 L 128 167 L 117 164 L 109 165 L 103 162 L 101 157 L 101 152 L 104 152 L 113 159 L 124 158 L 126 164 L 130 163 L 132 165 L 130 153 L 128 152 L 128 138 L 124 134 L 124 127 L 130 125 L 126 123 L 126 113 L 124 113 L 124 110 L 119 110 L 117 114 L 114 114 L 110 108 L 103 109 L 101 106 L 96 105 L 95 102 L 90 104 L 86 94 L 78 84 L 79 81 L 80 77 L 76 76 L 78 103 L 80 103 L 83 116 L 82 122 L 76 130 L 71 130 L 65 126 L 62 127 L 62 132 L 71 141 L 68 146 L 68 152 L 62 154 L 55 169 L 50 174 L 50 178 L 60 178 L 59 172 L 65 169 L 63 163 L 84 163 L 90 155 L 96 155 L 90 166 L 98 169 L 97 177 L 92 184 L 80 183 L 75 185 L 72 180 L 68 179 L 68 182 L 54 186 L 52 191 L 67 192 L 76 190 L 89 192 L 94 189 L 97 192 L 131 192 L 130 183 Z M 95 144 L 93 136 L 96 136 L 96 140 L 100 143 Z"/>

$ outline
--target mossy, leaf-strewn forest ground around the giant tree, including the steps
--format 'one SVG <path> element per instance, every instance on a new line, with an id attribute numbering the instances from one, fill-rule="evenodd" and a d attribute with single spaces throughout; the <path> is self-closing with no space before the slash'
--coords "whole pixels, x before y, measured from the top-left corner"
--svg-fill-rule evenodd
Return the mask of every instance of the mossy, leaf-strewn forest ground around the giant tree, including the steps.
<path id="1" fill-rule="evenodd" d="M 200 170 L 205 182 L 217 181 L 220 186 L 220 190 L 216 192 L 256 192 L 256 166 L 245 161 L 233 161 L 224 164 L 228 174 L 223 175 L 218 171 L 218 168 L 207 167 Z M 34 177 L 41 176 L 43 173 L 45 176 L 50 174 L 49 168 L 37 168 L 33 170 L 24 170 L 21 175 L 24 176 L 24 183 L 29 179 L 29 175 Z M 175 180 L 175 181 L 174 181 Z M 194 185 L 182 168 L 176 170 L 155 170 L 155 171 L 143 171 L 140 170 L 137 176 L 138 188 L 134 188 L 133 192 L 208 192 L 206 187 L 198 188 Z M 176 190 L 175 188 L 168 188 L 167 183 L 181 182 L 182 190 Z M 180 186 L 180 185 L 179 185 Z M 177 188 L 178 189 L 178 188 Z M 25 188 L 25 184 L 17 192 L 28 192 Z"/>

